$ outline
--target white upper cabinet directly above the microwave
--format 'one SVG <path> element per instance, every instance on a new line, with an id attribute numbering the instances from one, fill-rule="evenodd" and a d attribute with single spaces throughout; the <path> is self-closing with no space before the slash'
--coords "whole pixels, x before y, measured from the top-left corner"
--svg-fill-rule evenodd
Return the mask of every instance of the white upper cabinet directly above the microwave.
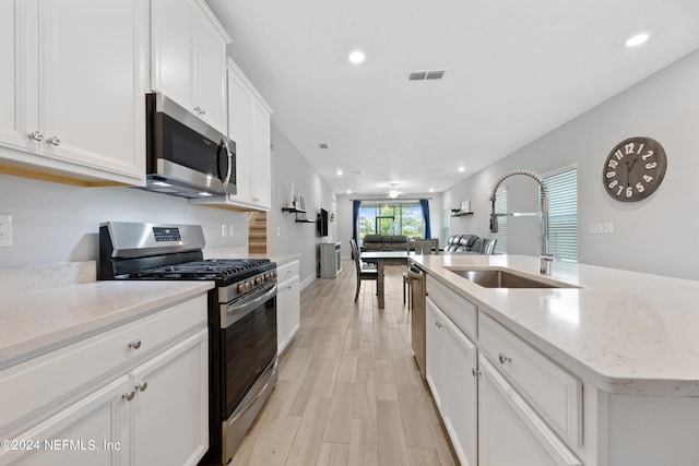
<path id="1" fill-rule="evenodd" d="M 226 132 L 230 37 L 199 0 L 152 0 L 152 87 Z"/>

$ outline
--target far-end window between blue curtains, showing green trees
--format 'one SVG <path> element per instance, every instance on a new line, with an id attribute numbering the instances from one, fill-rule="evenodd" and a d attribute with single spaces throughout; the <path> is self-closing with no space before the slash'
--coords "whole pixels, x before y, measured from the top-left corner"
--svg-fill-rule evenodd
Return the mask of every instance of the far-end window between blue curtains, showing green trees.
<path id="1" fill-rule="evenodd" d="M 412 203 L 362 203 L 359 206 L 359 239 L 366 235 L 405 235 L 423 238 L 425 231 L 423 210 Z"/>

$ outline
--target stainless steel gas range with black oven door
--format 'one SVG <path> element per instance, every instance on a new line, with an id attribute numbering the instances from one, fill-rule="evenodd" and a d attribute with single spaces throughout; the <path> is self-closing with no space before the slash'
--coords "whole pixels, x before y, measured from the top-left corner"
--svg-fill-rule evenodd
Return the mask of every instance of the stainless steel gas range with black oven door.
<path id="1" fill-rule="evenodd" d="M 230 462 L 277 380 L 276 264 L 204 260 L 201 226 L 99 226 L 98 279 L 213 280 L 209 294 L 209 453 Z"/>

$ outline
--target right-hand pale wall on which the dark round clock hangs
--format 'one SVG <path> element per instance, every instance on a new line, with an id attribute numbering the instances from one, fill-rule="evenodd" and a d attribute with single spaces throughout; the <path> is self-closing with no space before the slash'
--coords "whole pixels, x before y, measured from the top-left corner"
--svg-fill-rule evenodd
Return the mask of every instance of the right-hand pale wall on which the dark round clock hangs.
<path id="1" fill-rule="evenodd" d="M 699 51 L 695 51 L 457 184 L 445 192 L 445 205 L 471 198 L 475 214 L 464 229 L 488 236 L 488 194 L 500 176 L 516 168 L 542 174 L 577 164 L 581 263 L 699 279 L 699 219 L 694 215 L 699 202 L 698 83 Z M 650 198 L 618 202 L 604 191 L 602 168 L 617 143 L 637 135 L 653 138 L 665 147 L 667 172 Z M 509 211 L 535 207 L 536 184 L 525 177 L 511 180 L 506 183 Z M 531 225 L 513 220 L 508 220 L 508 252 L 537 254 L 535 220 Z M 612 223 L 614 232 L 590 235 L 590 223 Z"/>

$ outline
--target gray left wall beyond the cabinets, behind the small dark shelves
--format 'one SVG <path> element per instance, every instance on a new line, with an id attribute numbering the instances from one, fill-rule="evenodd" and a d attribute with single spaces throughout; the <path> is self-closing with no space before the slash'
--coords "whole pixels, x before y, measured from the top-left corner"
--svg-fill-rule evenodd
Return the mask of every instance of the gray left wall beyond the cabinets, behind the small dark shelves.
<path id="1" fill-rule="evenodd" d="M 300 254 L 300 279 L 306 285 L 316 277 L 318 244 L 334 242 L 337 238 L 336 222 L 329 224 L 329 236 L 319 237 L 316 224 L 296 223 L 295 215 L 283 213 L 282 207 L 289 201 L 292 183 L 304 196 L 307 217 L 312 220 L 321 207 L 329 213 L 335 212 L 335 196 L 274 123 L 272 146 L 272 208 L 268 216 L 268 251 Z"/>

